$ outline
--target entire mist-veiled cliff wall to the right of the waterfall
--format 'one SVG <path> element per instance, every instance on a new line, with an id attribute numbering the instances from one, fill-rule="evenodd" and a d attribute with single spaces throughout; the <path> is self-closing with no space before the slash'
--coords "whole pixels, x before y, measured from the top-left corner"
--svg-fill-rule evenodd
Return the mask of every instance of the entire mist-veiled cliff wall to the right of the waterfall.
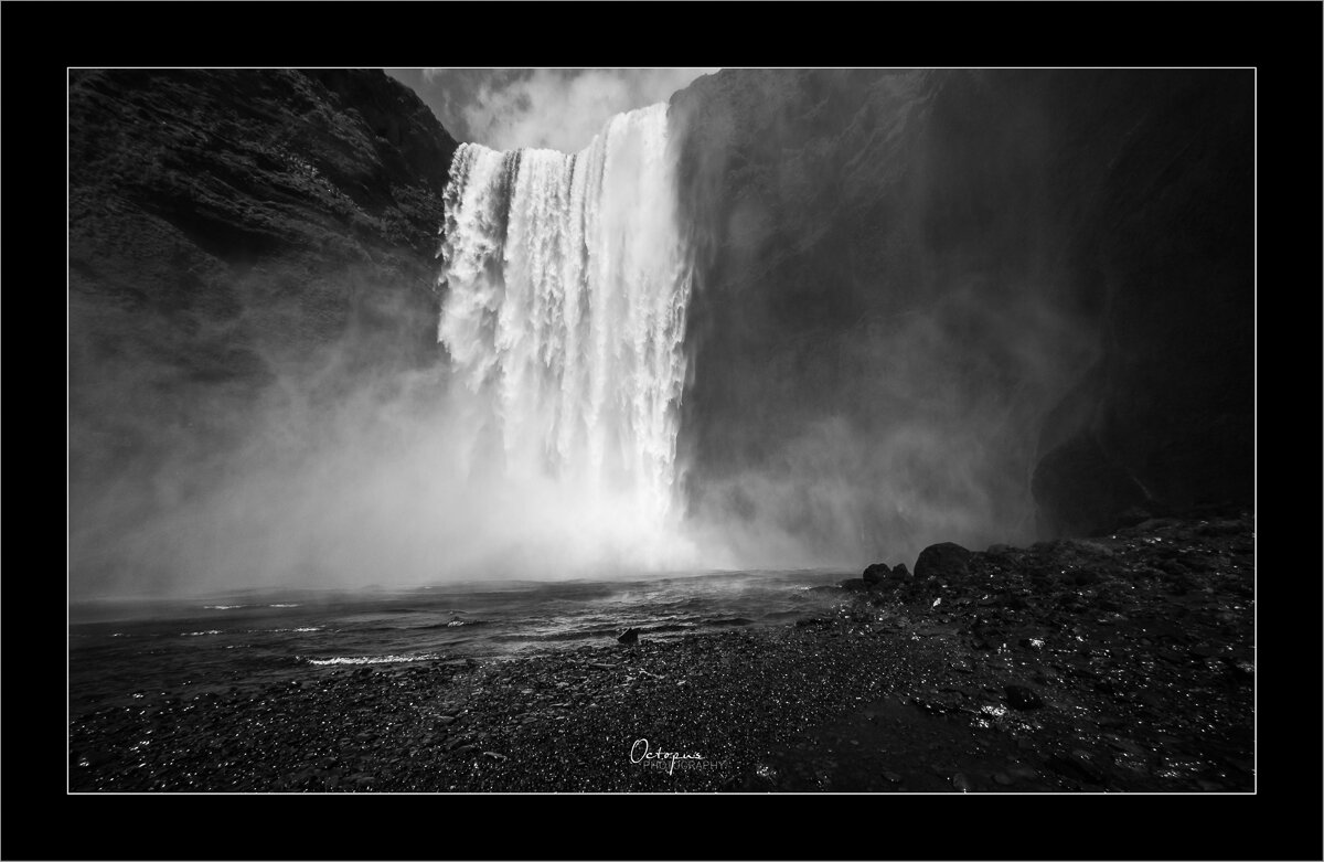
<path id="1" fill-rule="evenodd" d="M 1250 72 L 727 70 L 671 110 L 692 515 L 854 559 L 1249 499 Z"/>

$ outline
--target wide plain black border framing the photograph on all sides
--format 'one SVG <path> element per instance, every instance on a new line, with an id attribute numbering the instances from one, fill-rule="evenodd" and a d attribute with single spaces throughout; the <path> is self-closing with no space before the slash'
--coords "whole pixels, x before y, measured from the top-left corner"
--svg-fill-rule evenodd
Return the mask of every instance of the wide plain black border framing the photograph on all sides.
<path id="1" fill-rule="evenodd" d="M 20 3 L 4 40 L 11 416 L 60 416 L 48 332 L 68 66 L 1255 66 L 1259 790 L 1254 796 L 68 796 L 60 434 L 11 422 L 5 859 L 1319 859 L 1321 62 L 1317 3 Z M 49 212 L 48 212 L 49 211 Z M 36 252 L 36 254 L 34 254 Z M 40 256 L 40 257 L 38 257 Z M 26 274 L 24 274 L 26 273 Z M 46 314 L 45 302 L 52 303 Z M 36 305 L 38 307 L 29 309 Z M 1316 312 L 1320 312 L 1316 318 Z M 42 320 L 45 323 L 42 323 Z M 25 340 L 20 327 L 37 328 Z M 1295 331 L 1294 327 L 1301 327 Z M 46 352 L 56 354 L 46 358 Z M 1283 354 L 1287 354 L 1286 358 Z M 1309 352 L 1309 356 L 1299 354 Z M 1286 364 L 1284 364 L 1286 363 Z M 42 371 L 33 373 L 33 365 Z M 1288 377 L 1287 396 L 1271 379 Z M 1309 385 L 1301 404 L 1303 377 Z M 1287 400 L 1287 410 L 1283 401 Z M 1270 417 L 1275 417 L 1272 424 Z M 36 425 L 36 424 L 34 424 Z M 1305 440 L 1292 440 L 1291 432 Z M 1286 438 L 1286 440 L 1284 440 Z M 1287 453 L 1286 455 L 1283 453 Z M 19 457 L 21 455 L 21 457 Z M 1300 461 L 1309 461 L 1305 469 Z M 41 473 L 54 466 L 40 467 Z M 1284 475 L 1286 474 L 1286 475 Z M 1284 478 L 1287 481 L 1284 481 Z M 1292 482 L 1291 485 L 1288 482 Z M 42 490 L 44 489 L 44 490 Z M 1309 501 L 1308 512 L 1301 502 Z M 1292 515 L 1300 515 L 1300 522 Z M 17 530 L 15 530 L 17 527 Z M 38 530 L 32 530 L 38 527 Z M 53 535 L 52 535 L 53 534 Z M 46 539 L 49 536 L 49 540 Z M 17 538 L 17 540 L 15 540 Z M 40 595 L 38 595 L 40 593 Z M 49 595 L 54 593 L 54 596 Z M 58 612 L 53 612 L 52 616 Z"/>

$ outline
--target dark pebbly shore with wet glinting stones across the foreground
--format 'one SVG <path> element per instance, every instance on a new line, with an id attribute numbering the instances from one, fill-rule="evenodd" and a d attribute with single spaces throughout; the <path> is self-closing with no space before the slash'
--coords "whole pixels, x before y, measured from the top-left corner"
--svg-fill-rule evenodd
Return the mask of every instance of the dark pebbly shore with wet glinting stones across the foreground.
<path id="1" fill-rule="evenodd" d="M 1250 792 L 1254 573 L 1249 512 L 935 546 L 785 628 L 146 693 L 71 716 L 69 783 Z"/>

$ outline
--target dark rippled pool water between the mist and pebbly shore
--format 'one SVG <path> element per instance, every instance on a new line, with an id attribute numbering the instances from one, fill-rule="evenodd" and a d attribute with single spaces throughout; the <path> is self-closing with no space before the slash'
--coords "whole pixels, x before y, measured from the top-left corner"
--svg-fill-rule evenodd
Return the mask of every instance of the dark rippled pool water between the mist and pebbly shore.
<path id="1" fill-rule="evenodd" d="M 637 580 L 441 584 L 409 589 L 234 592 L 70 606 L 70 707 L 163 690 L 303 679 L 324 669 L 500 658 L 776 625 L 835 601 L 839 571 L 686 573 Z"/>

